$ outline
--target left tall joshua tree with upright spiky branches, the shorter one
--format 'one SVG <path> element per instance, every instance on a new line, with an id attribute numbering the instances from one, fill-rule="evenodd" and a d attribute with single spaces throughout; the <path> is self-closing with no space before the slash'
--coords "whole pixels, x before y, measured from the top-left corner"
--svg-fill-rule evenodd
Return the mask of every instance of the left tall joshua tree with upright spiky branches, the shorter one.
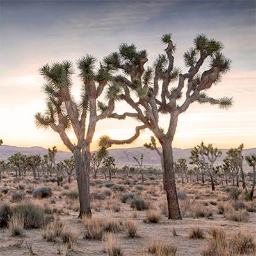
<path id="1" fill-rule="evenodd" d="M 118 84 L 109 84 L 109 65 L 100 65 L 95 69 L 96 59 L 87 55 L 77 61 L 79 76 L 83 82 L 81 100 L 76 102 L 71 93 L 72 63 L 62 61 L 40 68 L 40 74 L 45 79 L 43 86 L 46 95 L 45 113 L 36 113 L 37 127 L 51 127 L 58 132 L 65 146 L 73 153 L 76 165 L 76 177 L 79 191 L 80 212 L 91 216 L 90 209 L 90 144 L 95 132 L 96 124 L 105 118 L 115 105 L 115 95 L 120 89 Z M 108 104 L 98 104 L 97 99 L 107 89 Z M 74 131 L 76 143 L 68 137 L 68 129 Z"/>

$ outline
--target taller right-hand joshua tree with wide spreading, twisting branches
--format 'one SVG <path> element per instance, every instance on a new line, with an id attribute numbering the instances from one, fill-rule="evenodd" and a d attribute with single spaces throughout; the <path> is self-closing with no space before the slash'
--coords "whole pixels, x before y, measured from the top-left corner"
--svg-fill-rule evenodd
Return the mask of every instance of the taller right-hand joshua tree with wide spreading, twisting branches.
<path id="1" fill-rule="evenodd" d="M 109 139 L 108 145 L 131 143 L 138 138 L 140 131 L 146 128 L 154 133 L 163 150 L 168 218 L 181 219 L 172 149 L 179 115 L 193 102 L 216 104 L 220 108 L 228 108 L 232 105 L 232 98 L 214 99 L 205 93 L 212 84 L 220 81 L 222 74 L 229 70 L 230 60 L 221 53 L 223 49 L 221 42 L 209 39 L 205 35 L 198 35 L 193 41 L 193 47 L 184 53 L 184 63 L 188 71 L 181 72 L 173 65 L 176 45 L 173 44 L 172 36 L 163 35 L 161 41 L 167 46 L 164 50 L 165 54 L 158 55 L 152 68 L 145 68 L 148 61 L 147 52 L 138 51 L 134 44 L 121 44 L 118 52 L 110 54 L 105 59 L 106 63 L 117 70 L 113 81 L 122 84 L 124 88 L 124 92 L 120 93 L 118 98 L 133 109 L 132 112 L 121 115 L 111 113 L 108 117 L 118 119 L 131 117 L 141 123 L 136 127 L 134 136 L 127 140 Z M 209 69 L 201 76 L 198 72 L 208 60 Z M 172 86 L 174 82 L 177 84 Z M 179 100 L 182 102 L 178 104 Z M 166 132 L 160 127 L 159 114 L 166 114 L 170 118 Z"/>

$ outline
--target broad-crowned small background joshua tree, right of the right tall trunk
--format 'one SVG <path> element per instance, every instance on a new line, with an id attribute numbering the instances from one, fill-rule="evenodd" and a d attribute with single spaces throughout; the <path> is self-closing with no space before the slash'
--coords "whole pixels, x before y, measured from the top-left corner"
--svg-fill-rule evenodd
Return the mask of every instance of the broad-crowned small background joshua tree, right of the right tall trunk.
<path id="1" fill-rule="evenodd" d="M 221 150 L 218 150 L 216 147 L 212 147 L 212 144 L 206 146 L 202 141 L 202 143 L 193 148 L 190 153 L 191 163 L 200 163 L 204 165 L 205 169 L 209 172 L 212 190 L 214 190 L 214 163 L 216 159 L 221 156 Z"/>

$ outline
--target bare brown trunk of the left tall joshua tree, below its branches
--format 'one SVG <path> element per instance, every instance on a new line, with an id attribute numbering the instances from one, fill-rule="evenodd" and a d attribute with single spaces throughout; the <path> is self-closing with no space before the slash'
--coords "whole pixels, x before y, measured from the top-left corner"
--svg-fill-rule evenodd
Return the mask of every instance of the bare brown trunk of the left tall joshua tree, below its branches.
<path id="1" fill-rule="evenodd" d="M 79 203 L 80 212 L 78 218 L 83 216 L 92 216 L 90 208 L 90 152 L 86 148 L 82 151 L 78 148 L 74 148 L 73 151 L 75 167 L 76 167 L 76 177 L 77 186 L 79 191 Z"/>

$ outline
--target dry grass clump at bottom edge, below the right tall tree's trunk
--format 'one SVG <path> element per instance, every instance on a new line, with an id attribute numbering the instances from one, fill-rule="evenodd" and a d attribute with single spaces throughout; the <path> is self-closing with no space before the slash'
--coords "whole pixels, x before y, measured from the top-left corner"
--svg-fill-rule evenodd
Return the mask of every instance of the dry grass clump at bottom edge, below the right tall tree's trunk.
<path id="1" fill-rule="evenodd" d="M 175 256 L 176 252 L 177 246 L 164 241 L 154 241 L 148 246 L 148 253 L 156 256 Z"/>

